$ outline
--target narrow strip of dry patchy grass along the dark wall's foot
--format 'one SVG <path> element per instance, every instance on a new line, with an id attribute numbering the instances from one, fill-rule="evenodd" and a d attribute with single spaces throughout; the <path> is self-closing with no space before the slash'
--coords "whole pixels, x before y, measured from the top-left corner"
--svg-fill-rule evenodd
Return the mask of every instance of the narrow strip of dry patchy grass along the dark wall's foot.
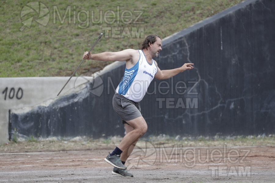
<path id="1" fill-rule="evenodd" d="M 32 138 L 31 138 L 32 139 Z M 75 151 L 75 150 L 89 150 L 89 149 L 113 149 L 119 144 L 122 137 L 110 137 L 110 138 L 73 138 L 70 140 L 57 140 L 57 138 L 51 139 L 35 139 L 25 140 L 22 142 L 9 142 L 0 145 L 0 152 L 44 152 L 44 151 Z M 138 146 L 145 148 L 146 142 L 151 143 L 154 147 L 173 147 L 173 145 L 180 145 L 181 147 L 221 147 L 227 145 L 232 146 L 275 146 L 275 136 L 270 137 L 215 137 L 215 138 L 186 138 L 183 137 L 180 140 L 171 137 L 149 137 L 141 139 L 138 142 Z M 150 146 L 151 147 L 151 146 Z"/>

